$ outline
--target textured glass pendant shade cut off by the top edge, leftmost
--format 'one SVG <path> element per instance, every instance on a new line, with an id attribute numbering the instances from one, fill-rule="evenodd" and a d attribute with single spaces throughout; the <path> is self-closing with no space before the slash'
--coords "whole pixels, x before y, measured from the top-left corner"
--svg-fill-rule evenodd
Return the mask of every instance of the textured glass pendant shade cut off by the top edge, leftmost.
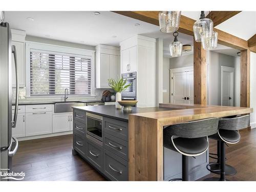
<path id="1" fill-rule="evenodd" d="M 164 33 L 173 33 L 178 31 L 180 25 L 181 11 L 160 11 L 159 27 Z"/>

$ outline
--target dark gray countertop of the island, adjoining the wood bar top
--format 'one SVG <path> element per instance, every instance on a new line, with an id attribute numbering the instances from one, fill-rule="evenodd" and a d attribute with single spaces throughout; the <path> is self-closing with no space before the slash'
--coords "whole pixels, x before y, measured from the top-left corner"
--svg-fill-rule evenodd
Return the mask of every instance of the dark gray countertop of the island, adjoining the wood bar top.
<path id="1" fill-rule="evenodd" d="M 132 111 L 123 112 L 122 110 L 117 110 L 115 105 L 74 106 L 73 108 L 91 112 L 91 113 L 101 115 L 104 117 L 109 117 L 109 118 L 113 118 L 113 119 L 117 119 L 117 120 L 121 120 L 121 121 L 126 121 L 126 122 L 128 122 L 128 120 L 129 120 L 129 114 L 177 110 L 177 109 L 172 109 L 172 108 L 163 108 L 163 107 L 156 106 L 156 107 L 152 107 L 152 108 L 132 107 Z"/>

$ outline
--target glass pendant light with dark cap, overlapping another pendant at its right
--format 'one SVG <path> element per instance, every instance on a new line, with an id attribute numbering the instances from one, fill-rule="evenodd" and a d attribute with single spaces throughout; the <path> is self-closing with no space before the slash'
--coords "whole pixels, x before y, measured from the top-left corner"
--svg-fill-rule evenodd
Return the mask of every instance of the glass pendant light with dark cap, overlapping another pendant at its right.
<path id="1" fill-rule="evenodd" d="M 214 23 L 211 19 L 206 18 L 204 11 L 201 11 L 201 16 L 199 20 L 193 25 L 193 31 L 195 40 L 197 42 L 202 42 L 208 37 L 211 37 L 212 31 L 214 28 Z"/>

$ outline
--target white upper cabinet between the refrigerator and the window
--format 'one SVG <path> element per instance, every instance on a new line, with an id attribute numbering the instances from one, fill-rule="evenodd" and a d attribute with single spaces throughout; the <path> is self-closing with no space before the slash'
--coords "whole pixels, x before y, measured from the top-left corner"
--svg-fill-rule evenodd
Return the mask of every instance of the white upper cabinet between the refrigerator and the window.
<path id="1" fill-rule="evenodd" d="M 19 87 L 25 87 L 25 31 L 11 29 L 12 45 L 16 47 Z M 16 87 L 15 64 L 12 54 L 12 87 Z"/>

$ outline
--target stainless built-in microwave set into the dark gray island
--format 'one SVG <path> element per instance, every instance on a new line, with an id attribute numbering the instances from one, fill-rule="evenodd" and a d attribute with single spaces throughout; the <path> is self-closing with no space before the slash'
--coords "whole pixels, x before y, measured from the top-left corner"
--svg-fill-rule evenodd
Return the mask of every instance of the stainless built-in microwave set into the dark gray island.
<path id="1" fill-rule="evenodd" d="M 102 116 L 86 113 L 86 137 L 102 146 Z"/>

